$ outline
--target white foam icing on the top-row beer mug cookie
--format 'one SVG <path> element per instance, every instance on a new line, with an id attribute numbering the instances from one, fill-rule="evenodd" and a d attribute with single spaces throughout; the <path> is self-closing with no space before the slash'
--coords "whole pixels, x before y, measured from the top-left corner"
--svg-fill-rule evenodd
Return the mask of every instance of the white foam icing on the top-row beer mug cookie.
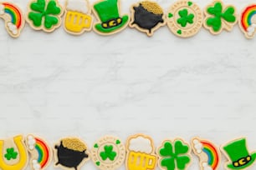
<path id="1" fill-rule="evenodd" d="M 76 11 L 79 13 L 89 13 L 86 0 L 67 0 L 67 10 Z"/>

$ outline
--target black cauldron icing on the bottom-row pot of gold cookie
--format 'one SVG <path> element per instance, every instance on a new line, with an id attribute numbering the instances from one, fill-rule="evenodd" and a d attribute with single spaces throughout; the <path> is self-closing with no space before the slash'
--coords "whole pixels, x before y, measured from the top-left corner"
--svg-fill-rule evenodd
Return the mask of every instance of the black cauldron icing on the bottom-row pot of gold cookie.
<path id="1" fill-rule="evenodd" d="M 58 163 L 56 163 L 56 165 L 61 164 L 64 167 L 74 168 L 77 170 L 77 167 L 82 163 L 84 158 L 88 158 L 85 150 L 83 152 L 79 152 L 69 148 L 64 148 L 62 142 L 59 146 L 56 145 L 55 149 L 57 149 L 58 157 Z"/>

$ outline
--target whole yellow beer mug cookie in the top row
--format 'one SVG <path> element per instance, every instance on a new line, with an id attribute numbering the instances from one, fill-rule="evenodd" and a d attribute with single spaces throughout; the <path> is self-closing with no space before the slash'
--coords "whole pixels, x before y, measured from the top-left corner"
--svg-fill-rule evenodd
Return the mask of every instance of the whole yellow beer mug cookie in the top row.
<path id="1" fill-rule="evenodd" d="M 64 29 L 74 35 L 89 32 L 92 28 L 93 18 L 91 16 L 88 0 L 66 0 L 66 13 L 64 17 Z"/>

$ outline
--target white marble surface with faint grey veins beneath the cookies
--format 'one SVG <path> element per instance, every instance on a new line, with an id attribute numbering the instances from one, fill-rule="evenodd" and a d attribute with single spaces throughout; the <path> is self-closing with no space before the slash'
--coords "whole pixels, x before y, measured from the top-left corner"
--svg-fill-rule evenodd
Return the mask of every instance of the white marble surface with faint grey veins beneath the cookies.
<path id="1" fill-rule="evenodd" d="M 26 11 L 27 0 L 14 2 Z M 133 2 L 124 0 L 122 11 Z M 166 10 L 174 1 L 157 2 Z M 252 3 L 224 2 L 239 12 Z M 199 136 L 221 145 L 245 136 L 256 148 L 256 42 L 238 25 L 218 36 L 202 28 L 187 39 L 167 27 L 153 37 L 134 28 L 74 37 L 62 27 L 44 33 L 27 24 L 18 39 L 3 20 L 0 29 L 1 138 L 36 133 L 53 144 L 79 136 L 92 146 L 105 134 L 125 141 L 146 133 L 159 146 L 165 138 Z M 190 169 L 198 169 L 196 157 Z"/>

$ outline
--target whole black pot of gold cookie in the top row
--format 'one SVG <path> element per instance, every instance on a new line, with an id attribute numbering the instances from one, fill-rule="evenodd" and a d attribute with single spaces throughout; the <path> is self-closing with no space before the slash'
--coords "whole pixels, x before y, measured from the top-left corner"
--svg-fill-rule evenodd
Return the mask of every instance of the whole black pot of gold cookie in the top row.
<path id="1" fill-rule="evenodd" d="M 152 36 L 156 29 L 165 24 L 166 17 L 163 9 L 156 2 L 142 1 L 131 6 L 131 22 L 129 23 L 131 28 Z"/>

